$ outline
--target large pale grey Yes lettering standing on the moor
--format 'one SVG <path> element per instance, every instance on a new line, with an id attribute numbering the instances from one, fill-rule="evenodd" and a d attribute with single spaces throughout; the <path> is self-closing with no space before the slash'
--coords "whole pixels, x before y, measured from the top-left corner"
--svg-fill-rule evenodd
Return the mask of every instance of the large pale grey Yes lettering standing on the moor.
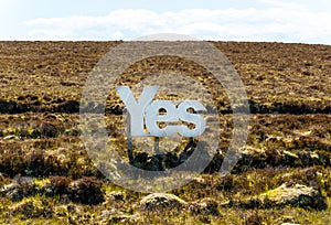
<path id="1" fill-rule="evenodd" d="M 173 137 L 179 133 L 182 137 L 197 137 L 205 131 L 205 120 L 197 114 L 189 113 L 189 109 L 195 111 L 206 111 L 205 107 L 197 100 L 186 100 L 175 106 L 170 100 L 154 100 L 159 87 L 147 86 L 137 101 L 129 87 L 116 87 L 121 100 L 124 101 L 130 116 L 130 130 L 132 137 Z M 159 115 L 160 109 L 167 111 L 166 115 Z M 193 124 L 194 129 L 188 126 L 175 125 L 160 128 L 158 122 L 179 122 L 185 121 Z M 145 131 L 145 126 L 148 132 Z"/>

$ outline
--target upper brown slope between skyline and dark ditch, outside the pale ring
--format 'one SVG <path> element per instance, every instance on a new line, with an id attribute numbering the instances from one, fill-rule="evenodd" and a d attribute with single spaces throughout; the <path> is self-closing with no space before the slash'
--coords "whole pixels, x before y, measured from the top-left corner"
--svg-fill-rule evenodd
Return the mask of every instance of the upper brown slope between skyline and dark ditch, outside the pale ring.
<path id="1" fill-rule="evenodd" d="M 88 73 L 119 43 L 0 42 L 0 113 L 77 113 Z M 212 43 L 238 71 L 252 113 L 331 113 L 331 46 Z"/>

